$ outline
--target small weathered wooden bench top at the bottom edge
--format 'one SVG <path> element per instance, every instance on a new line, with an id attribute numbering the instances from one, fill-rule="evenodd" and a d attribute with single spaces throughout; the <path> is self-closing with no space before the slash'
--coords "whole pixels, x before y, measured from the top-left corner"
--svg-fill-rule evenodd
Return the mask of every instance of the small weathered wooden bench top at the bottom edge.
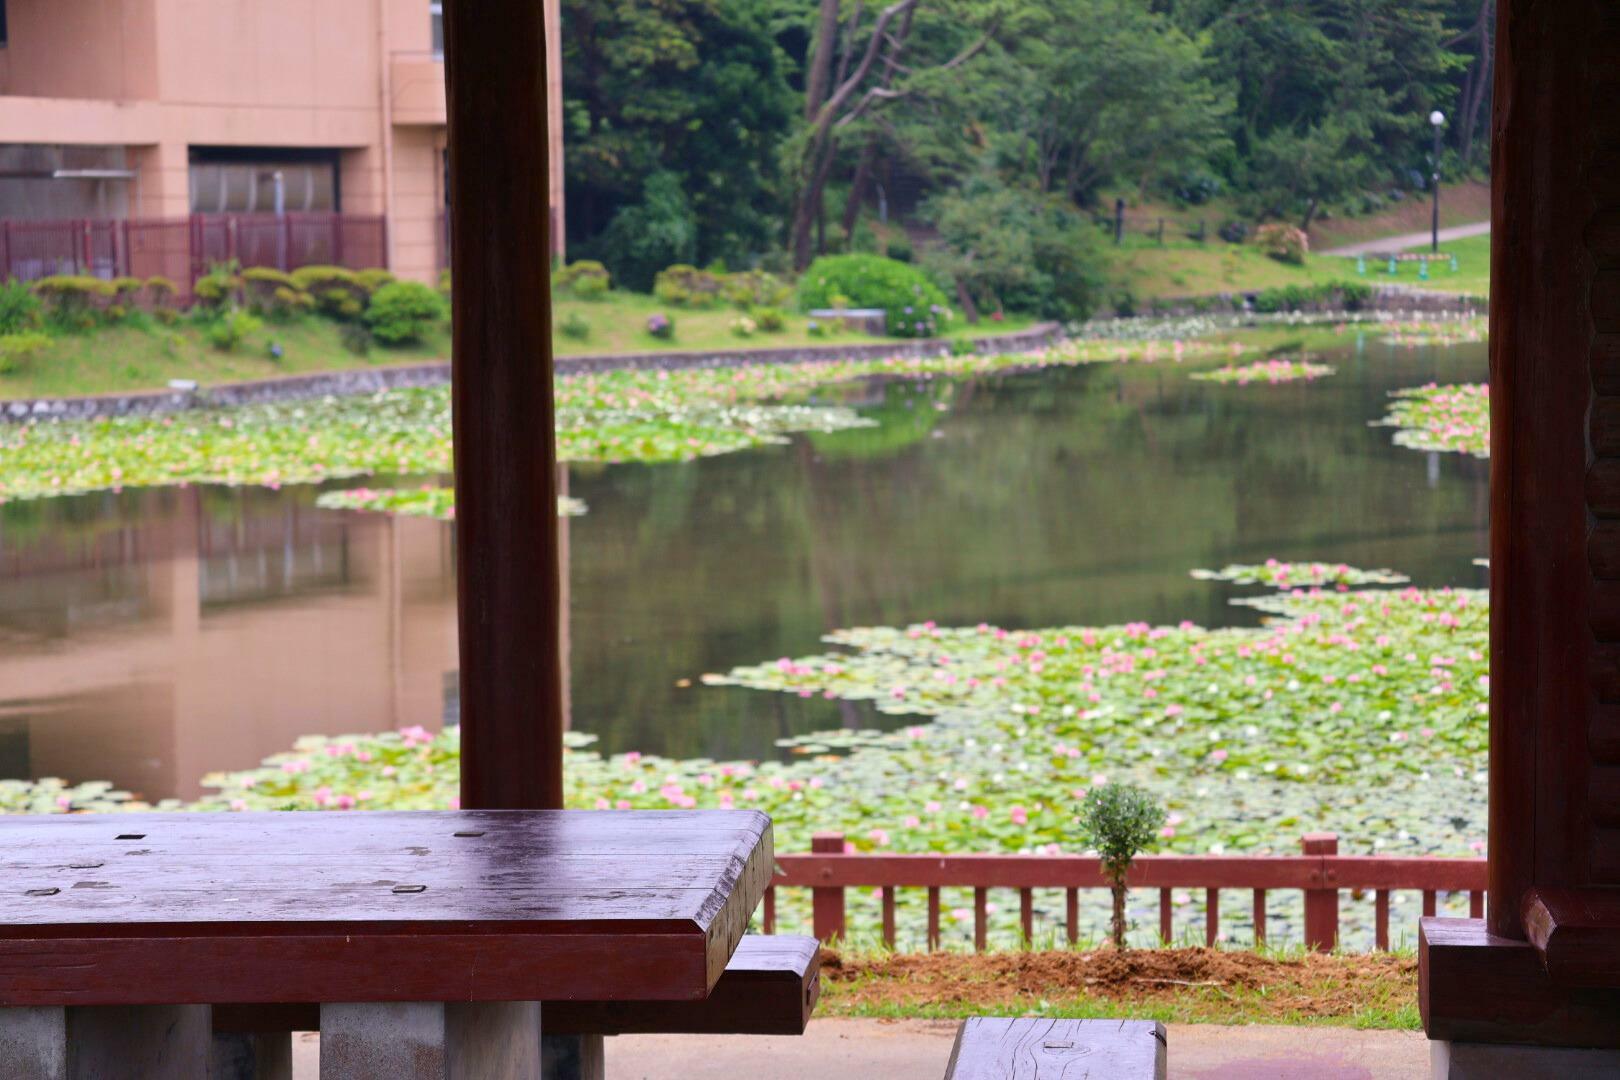
<path id="1" fill-rule="evenodd" d="M 944 1080 L 1165 1080 L 1155 1020 L 974 1017 L 956 1033 Z"/>

